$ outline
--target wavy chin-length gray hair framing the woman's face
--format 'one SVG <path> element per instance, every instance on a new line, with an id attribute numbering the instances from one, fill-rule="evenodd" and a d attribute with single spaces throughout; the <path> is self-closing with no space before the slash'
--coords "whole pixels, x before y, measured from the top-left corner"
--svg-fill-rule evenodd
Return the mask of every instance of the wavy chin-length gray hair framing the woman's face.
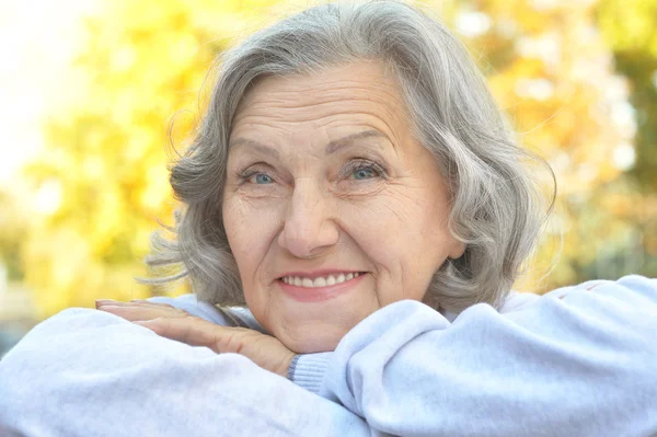
<path id="1" fill-rule="evenodd" d="M 466 48 L 439 21 L 401 1 L 330 3 L 254 33 L 218 59 L 211 100 L 192 146 L 170 166 L 176 214 L 173 240 L 155 232 L 151 267 L 189 276 L 200 300 L 245 304 L 222 222 L 221 202 L 231 123 L 257 79 L 357 61 L 385 62 L 399 78 L 418 141 L 435 157 L 451 193 L 450 232 L 465 244 L 435 273 L 425 302 L 460 312 L 504 302 L 533 252 L 552 202 L 532 175 L 550 165 L 520 148 Z"/>

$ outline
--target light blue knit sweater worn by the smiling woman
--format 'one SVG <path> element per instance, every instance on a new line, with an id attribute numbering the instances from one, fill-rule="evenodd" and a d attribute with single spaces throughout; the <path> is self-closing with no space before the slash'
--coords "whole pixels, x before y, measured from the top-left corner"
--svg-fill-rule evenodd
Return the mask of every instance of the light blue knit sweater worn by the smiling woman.
<path id="1" fill-rule="evenodd" d="M 292 381 L 68 309 L 0 361 L 0 435 L 657 435 L 657 280 L 596 283 L 458 317 L 396 302 L 335 352 L 298 356 Z M 261 329 L 193 295 L 152 300 Z"/>

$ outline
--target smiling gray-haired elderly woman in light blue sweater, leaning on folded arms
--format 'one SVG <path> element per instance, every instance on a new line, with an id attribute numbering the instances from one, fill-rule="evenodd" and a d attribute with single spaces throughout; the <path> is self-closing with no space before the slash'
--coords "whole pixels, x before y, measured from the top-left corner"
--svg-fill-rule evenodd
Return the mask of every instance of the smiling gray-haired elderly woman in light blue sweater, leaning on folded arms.
<path id="1" fill-rule="evenodd" d="M 463 46 L 408 5 L 252 35 L 172 168 L 186 208 L 150 257 L 194 295 L 35 327 L 0 365 L 0 429 L 657 433 L 654 279 L 510 291 L 550 209 L 532 160 Z"/>

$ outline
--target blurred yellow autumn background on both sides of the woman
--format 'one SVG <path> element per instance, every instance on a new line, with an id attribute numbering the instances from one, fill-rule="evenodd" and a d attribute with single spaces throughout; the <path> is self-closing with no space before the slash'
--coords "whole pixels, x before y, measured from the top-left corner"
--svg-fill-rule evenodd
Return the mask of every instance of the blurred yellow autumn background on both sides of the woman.
<path id="1" fill-rule="evenodd" d="M 419 3 L 554 169 L 556 210 L 517 288 L 657 277 L 657 0 Z M 134 280 L 157 220 L 173 222 L 170 146 L 188 143 L 216 55 L 308 4 L 0 3 L 0 356 L 67 307 L 188 291 Z"/>

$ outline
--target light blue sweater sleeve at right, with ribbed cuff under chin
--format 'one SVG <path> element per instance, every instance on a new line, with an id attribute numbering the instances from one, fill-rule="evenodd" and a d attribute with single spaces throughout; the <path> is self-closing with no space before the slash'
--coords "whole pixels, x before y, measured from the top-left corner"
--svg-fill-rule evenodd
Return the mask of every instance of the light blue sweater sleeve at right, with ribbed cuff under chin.
<path id="1" fill-rule="evenodd" d="M 334 353 L 300 356 L 295 376 L 401 436 L 656 435 L 657 280 L 595 285 L 451 323 L 395 302 Z"/>

